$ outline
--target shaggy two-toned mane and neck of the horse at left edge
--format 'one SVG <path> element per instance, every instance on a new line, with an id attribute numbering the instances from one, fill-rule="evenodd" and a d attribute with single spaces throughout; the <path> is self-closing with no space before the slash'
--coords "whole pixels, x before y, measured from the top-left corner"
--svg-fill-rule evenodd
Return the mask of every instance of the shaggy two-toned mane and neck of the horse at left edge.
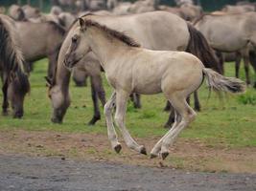
<path id="1" fill-rule="evenodd" d="M 24 71 L 24 58 L 17 46 L 11 26 L 8 21 L 0 17 L 0 57 L 3 63 L 3 70 L 12 77 L 15 74 L 17 83 L 19 83 L 20 92 L 28 93 L 30 83 L 28 75 Z"/>

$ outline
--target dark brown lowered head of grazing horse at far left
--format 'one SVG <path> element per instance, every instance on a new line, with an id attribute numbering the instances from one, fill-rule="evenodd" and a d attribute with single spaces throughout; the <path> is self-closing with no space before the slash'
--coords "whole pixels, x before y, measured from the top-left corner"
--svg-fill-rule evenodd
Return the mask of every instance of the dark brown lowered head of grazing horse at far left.
<path id="1" fill-rule="evenodd" d="M 23 117 L 23 103 L 24 98 L 30 91 L 30 83 L 28 76 L 22 73 L 12 74 L 8 86 L 8 97 L 11 101 L 13 117 Z"/>

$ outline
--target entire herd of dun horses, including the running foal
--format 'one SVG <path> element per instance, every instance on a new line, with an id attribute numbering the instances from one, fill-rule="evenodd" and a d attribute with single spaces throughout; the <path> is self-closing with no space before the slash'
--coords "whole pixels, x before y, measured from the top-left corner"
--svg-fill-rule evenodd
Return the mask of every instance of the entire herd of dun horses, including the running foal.
<path id="1" fill-rule="evenodd" d="M 196 117 L 189 105 L 191 94 L 195 97 L 195 109 L 200 109 L 197 90 L 204 77 L 210 90 L 244 92 L 242 80 L 222 75 L 224 53 L 235 53 L 237 77 L 240 59 L 244 57 L 246 83 L 250 84 L 249 62 L 256 70 L 256 12 L 217 11 L 200 14 L 188 22 L 170 12 L 171 7 L 162 6 L 165 11 L 145 11 L 151 6 L 147 4 L 149 2 L 153 2 L 155 9 L 155 1 L 138 2 L 144 5 L 139 10 L 144 11 L 125 15 L 96 11 L 84 12 L 76 19 L 74 14 L 60 12 L 60 8 L 54 7 L 48 15 L 36 11 L 39 16 L 30 17 L 28 12 L 33 15 L 31 12 L 35 8 L 26 6 L 30 11 L 24 11 L 16 5 L 18 12 L 12 7 L 9 11 L 12 15 L 0 14 L 3 114 L 8 114 L 10 101 L 13 117 L 23 116 L 33 63 L 47 57 L 49 67 L 45 78 L 52 101 L 52 121 L 61 123 L 71 103 L 71 75 L 80 73 L 82 80 L 89 76 L 94 103 L 94 115 L 89 124 L 95 124 L 101 118 L 100 99 L 105 106 L 108 138 L 117 153 L 122 147 L 113 124 L 113 108 L 116 110 L 114 120 L 128 147 L 147 154 L 146 148 L 131 138 L 126 128 L 128 98 L 132 97 L 135 106 L 140 107 L 139 95 L 163 93 L 167 98 L 166 108 L 170 109 L 166 126 L 171 129 L 155 144 L 151 158 L 160 156 L 165 159 L 175 138 Z M 190 2 L 180 6 L 195 6 Z M 235 7 L 241 11 L 243 6 L 252 5 Z M 21 16 L 13 16 L 16 13 Z M 102 72 L 114 89 L 107 102 Z"/>

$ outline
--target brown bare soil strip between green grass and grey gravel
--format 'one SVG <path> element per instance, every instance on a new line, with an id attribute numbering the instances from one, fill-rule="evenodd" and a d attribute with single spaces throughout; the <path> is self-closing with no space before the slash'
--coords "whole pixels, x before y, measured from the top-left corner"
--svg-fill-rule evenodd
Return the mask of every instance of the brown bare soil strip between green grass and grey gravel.
<path id="1" fill-rule="evenodd" d="M 148 152 L 159 137 L 139 138 Z M 256 148 L 209 146 L 198 139 L 178 138 L 168 159 L 149 159 L 130 151 L 123 141 L 121 154 L 115 154 L 106 135 L 38 131 L 1 131 L 0 154 L 33 157 L 59 157 L 111 161 L 142 166 L 186 169 L 189 171 L 256 173 Z"/>

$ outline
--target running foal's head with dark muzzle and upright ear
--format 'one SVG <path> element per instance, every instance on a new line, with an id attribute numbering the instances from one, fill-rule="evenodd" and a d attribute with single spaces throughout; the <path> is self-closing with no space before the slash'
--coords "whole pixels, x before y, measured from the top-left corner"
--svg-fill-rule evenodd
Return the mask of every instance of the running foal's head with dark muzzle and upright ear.
<path id="1" fill-rule="evenodd" d="M 64 65 L 69 69 L 73 68 L 86 53 L 90 52 L 85 22 L 80 18 L 79 23 L 80 27 L 73 33 L 71 44 L 65 54 Z"/>

